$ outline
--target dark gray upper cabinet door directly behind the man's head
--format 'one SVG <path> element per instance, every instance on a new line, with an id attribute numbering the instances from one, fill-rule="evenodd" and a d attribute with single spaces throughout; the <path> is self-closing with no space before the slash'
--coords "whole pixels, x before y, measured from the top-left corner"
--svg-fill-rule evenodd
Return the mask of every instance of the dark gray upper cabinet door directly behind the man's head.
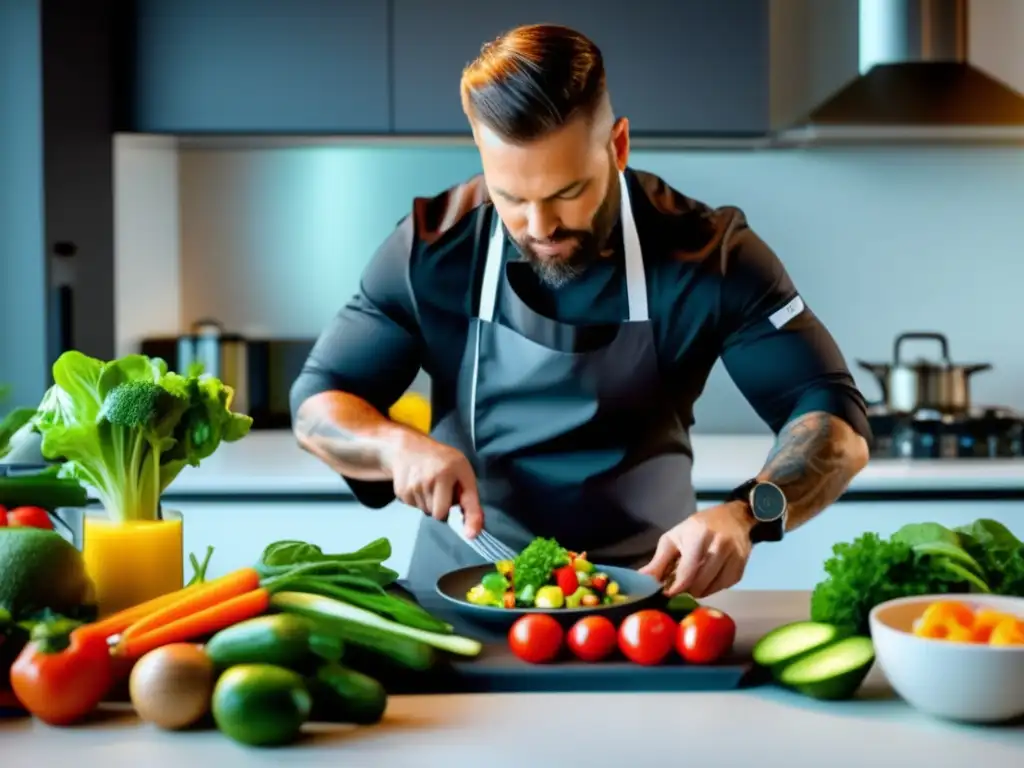
<path id="1" fill-rule="evenodd" d="M 635 134 L 760 135 L 769 128 L 767 0 L 392 6 L 397 133 L 468 133 L 459 96 L 463 68 L 485 41 L 537 23 L 572 27 L 598 44 L 615 112 Z"/>

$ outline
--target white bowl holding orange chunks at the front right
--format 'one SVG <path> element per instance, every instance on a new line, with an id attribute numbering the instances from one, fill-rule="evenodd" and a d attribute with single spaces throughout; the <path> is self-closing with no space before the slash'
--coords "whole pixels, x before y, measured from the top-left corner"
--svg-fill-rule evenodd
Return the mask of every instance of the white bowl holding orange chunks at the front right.
<path id="1" fill-rule="evenodd" d="M 879 667 L 914 709 L 973 723 L 1024 715 L 1024 645 L 995 646 L 932 640 L 913 623 L 936 600 L 959 600 L 1024 618 L 1024 599 L 995 595 L 923 595 L 889 600 L 869 615 Z"/>

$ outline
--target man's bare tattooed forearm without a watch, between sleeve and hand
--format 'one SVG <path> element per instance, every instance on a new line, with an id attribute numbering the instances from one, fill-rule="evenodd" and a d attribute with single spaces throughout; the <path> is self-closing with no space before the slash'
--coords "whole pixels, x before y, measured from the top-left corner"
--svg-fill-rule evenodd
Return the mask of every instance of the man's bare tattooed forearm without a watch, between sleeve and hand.
<path id="1" fill-rule="evenodd" d="M 295 418 L 296 439 L 305 451 L 339 474 L 360 480 L 384 480 L 388 436 L 398 425 L 366 400 L 342 392 L 310 397 Z"/>

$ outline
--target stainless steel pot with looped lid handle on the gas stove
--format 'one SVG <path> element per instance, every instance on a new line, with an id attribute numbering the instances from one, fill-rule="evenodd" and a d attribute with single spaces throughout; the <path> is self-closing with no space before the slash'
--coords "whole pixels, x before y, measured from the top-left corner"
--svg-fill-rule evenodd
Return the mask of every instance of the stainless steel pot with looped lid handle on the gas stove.
<path id="1" fill-rule="evenodd" d="M 941 348 L 941 360 L 904 361 L 900 355 L 900 347 L 903 342 L 911 339 L 938 342 Z M 934 332 L 910 332 L 897 336 L 893 344 L 892 362 L 857 360 L 857 365 L 872 373 L 878 379 L 883 399 L 880 404 L 891 412 L 901 414 L 911 414 L 921 409 L 948 414 L 969 411 L 971 376 L 992 368 L 988 362 L 952 365 L 949 360 L 949 342 L 943 334 Z"/>

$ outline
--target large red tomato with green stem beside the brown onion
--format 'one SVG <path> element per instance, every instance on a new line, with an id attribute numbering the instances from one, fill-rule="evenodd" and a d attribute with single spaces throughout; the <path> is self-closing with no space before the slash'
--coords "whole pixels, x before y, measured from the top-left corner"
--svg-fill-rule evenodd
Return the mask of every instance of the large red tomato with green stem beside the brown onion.
<path id="1" fill-rule="evenodd" d="M 106 638 L 68 629 L 67 620 L 38 625 L 10 668 L 18 701 L 49 725 L 82 720 L 114 684 Z"/>

